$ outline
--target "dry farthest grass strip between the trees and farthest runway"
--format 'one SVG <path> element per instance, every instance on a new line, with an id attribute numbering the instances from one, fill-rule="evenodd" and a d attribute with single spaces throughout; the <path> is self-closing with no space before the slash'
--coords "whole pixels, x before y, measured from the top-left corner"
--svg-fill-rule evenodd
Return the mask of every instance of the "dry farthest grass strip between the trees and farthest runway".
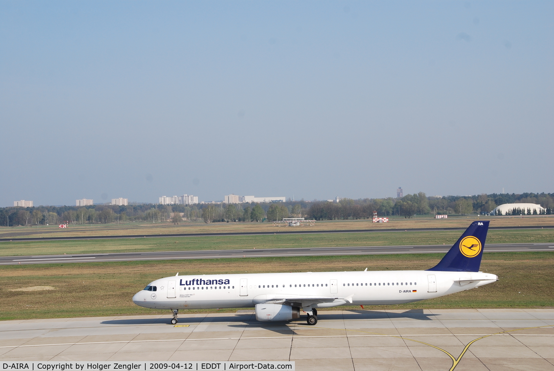
<path id="1" fill-rule="evenodd" d="M 106 236 L 106 235 L 155 235 L 160 233 L 227 233 L 262 232 L 275 230 L 347 230 L 347 229 L 387 229 L 387 228 L 444 228 L 467 227 L 477 215 L 470 217 L 450 217 L 434 219 L 432 216 L 405 219 L 391 217 L 388 223 L 372 223 L 371 220 L 326 220 L 317 221 L 311 227 L 273 227 L 271 222 L 210 223 L 184 222 L 173 225 L 165 223 L 128 222 L 125 224 L 70 225 L 69 228 L 54 226 L 0 227 L 0 238 L 17 237 L 56 237 L 56 236 Z M 529 215 L 524 217 L 486 216 L 479 220 L 490 220 L 491 226 L 554 225 L 554 215 Z"/>

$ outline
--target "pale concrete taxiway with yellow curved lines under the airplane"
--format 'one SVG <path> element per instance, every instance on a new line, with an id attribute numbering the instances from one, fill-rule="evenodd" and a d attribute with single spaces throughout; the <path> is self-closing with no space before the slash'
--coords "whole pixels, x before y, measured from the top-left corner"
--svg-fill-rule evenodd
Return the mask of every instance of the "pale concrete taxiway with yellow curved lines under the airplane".
<path id="1" fill-rule="evenodd" d="M 168 311 L 169 312 L 169 311 Z M 316 326 L 253 311 L 0 322 L 0 360 L 294 360 L 297 370 L 554 369 L 554 309 L 320 311 Z M 527 328 L 527 329 L 522 329 Z M 517 331 L 512 331 L 517 330 Z M 510 332 L 505 332 L 510 331 Z M 450 354 L 450 355 L 449 355 Z"/>

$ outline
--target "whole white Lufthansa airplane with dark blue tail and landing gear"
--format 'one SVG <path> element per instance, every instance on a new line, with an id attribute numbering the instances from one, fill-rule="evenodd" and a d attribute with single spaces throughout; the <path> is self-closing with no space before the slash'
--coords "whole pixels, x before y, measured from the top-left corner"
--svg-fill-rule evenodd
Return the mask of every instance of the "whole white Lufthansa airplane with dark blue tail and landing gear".
<path id="1" fill-rule="evenodd" d="M 443 259 L 426 271 L 255 273 L 156 279 L 137 292 L 141 307 L 171 309 L 255 308 L 258 321 L 290 321 L 317 308 L 383 305 L 436 298 L 498 280 L 479 271 L 488 221 L 473 222 Z"/>

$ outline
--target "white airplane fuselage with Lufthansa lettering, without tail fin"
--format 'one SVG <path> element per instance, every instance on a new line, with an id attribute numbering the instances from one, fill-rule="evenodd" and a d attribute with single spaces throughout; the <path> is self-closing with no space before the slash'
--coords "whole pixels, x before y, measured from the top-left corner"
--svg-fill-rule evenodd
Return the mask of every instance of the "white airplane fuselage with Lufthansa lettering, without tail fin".
<path id="1" fill-rule="evenodd" d="M 490 273 L 441 271 L 174 276 L 156 279 L 148 285 L 156 287 L 156 291 L 142 290 L 135 294 L 133 302 L 158 309 L 251 308 L 275 299 L 309 297 L 333 298 L 313 304 L 313 308 L 401 304 L 495 281 L 497 276 Z"/>

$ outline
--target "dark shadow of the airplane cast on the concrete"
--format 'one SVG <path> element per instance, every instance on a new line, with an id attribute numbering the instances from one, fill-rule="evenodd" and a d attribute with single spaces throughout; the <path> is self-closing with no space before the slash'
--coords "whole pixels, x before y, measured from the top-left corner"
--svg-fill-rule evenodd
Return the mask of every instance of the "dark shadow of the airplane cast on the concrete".
<path id="1" fill-rule="evenodd" d="M 408 319 L 417 319 L 419 321 L 433 321 L 434 316 L 439 316 L 439 314 L 431 314 L 431 313 L 424 313 L 423 309 L 410 309 L 409 311 L 402 312 L 402 313 L 394 313 L 394 312 L 382 312 L 382 311 L 358 311 L 358 310 L 350 310 L 345 311 L 344 313 L 333 313 L 333 314 L 326 314 L 325 312 L 321 311 L 317 314 L 317 318 L 320 320 L 327 320 L 327 321 L 341 321 L 343 319 L 399 319 L 399 318 L 408 318 Z M 171 317 L 168 316 L 167 318 L 126 318 L 126 319 L 111 319 L 109 321 L 101 322 L 102 324 L 129 324 L 129 325 L 136 325 L 136 324 L 166 324 L 171 321 Z M 281 326 L 282 324 L 286 322 L 273 322 L 271 324 L 266 322 L 258 322 L 256 321 L 256 317 L 254 314 L 250 313 L 229 313 L 228 316 L 224 317 L 186 317 L 186 318 L 179 318 L 178 324 L 191 324 L 191 323 L 199 323 L 202 322 L 203 324 L 206 323 L 222 323 L 222 322 L 242 322 L 242 324 L 231 324 L 229 327 L 244 327 L 245 323 L 248 326 L 257 326 L 257 327 L 263 327 L 272 329 L 273 331 L 276 331 L 274 328 L 275 326 Z M 300 324 L 302 324 L 301 321 Z M 263 324 L 263 325 L 261 325 Z M 261 326 L 260 326 L 261 325 Z"/>

